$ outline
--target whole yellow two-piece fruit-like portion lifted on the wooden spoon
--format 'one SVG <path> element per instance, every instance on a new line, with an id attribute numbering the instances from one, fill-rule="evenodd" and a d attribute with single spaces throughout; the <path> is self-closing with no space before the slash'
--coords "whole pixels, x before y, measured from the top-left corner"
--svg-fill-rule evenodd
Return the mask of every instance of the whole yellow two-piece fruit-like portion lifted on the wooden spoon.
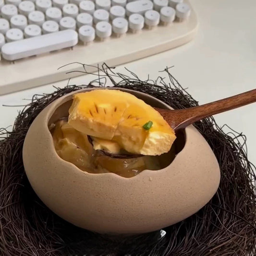
<path id="1" fill-rule="evenodd" d="M 119 90 L 78 93 L 73 97 L 69 113 L 68 122 L 74 129 L 117 142 L 133 154 L 161 155 L 171 149 L 176 139 L 173 129 L 157 110 Z M 149 121 L 152 126 L 147 130 L 144 125 Z"/>

